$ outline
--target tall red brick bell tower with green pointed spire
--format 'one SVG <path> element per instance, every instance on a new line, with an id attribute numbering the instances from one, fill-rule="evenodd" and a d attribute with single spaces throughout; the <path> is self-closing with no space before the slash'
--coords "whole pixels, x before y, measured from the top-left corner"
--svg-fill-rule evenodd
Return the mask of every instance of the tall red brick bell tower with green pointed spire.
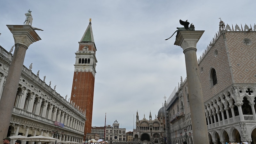
<path id="1" fill-rule="evenodd" d="M 92 105 L 94 92 L 95 67 L 97 51 L 92 34 L 91 19 L 76 51 L 76 63 L 74 79 L 71 91 L 70 103 L 74 107 L 85 111 L 86 121 L 84 134 L 91 133 L 92 129 Z M 85 140 L 86 137 L 84 137 Z"/>

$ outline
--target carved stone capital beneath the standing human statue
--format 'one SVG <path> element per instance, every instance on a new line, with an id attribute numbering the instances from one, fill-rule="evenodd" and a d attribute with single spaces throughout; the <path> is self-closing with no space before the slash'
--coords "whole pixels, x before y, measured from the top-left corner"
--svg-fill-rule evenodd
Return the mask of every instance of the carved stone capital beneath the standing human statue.
<path id="1" fill-rule="evenodd" d="M 15 44 L 24 44 L 28 46 L 41 38 L 36 34 L 30 25 L 6 25 L 11 31 Z"/>

